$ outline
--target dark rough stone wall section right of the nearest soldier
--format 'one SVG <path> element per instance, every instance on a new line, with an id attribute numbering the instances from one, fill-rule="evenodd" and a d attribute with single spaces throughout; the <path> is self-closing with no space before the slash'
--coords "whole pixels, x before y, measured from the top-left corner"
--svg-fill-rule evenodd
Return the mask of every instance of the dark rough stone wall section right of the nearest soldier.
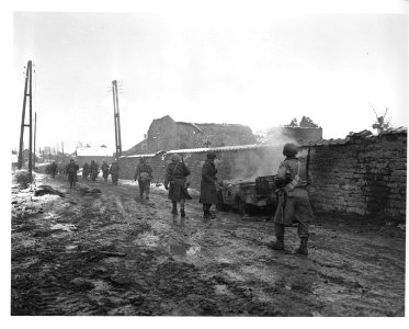
<path id="1" fill-rule="evenodd" d="M 406 170 L 406 134 L 313 147 L 311 204 L 320 211 L 405 218 Z"/>

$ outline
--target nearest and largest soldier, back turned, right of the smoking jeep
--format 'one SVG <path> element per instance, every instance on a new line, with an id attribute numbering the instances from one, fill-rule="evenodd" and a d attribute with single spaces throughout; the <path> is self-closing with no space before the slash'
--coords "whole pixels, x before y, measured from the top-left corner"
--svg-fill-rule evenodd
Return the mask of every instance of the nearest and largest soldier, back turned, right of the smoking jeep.
<path id="1" fill-rule="evenodd" d="M 313 219 L 311 205 L 307 192 L 306 163 L 296 158 L 299 146 L 285 144 L 285 160 L 280 164 L 274 183 L 279 188 L 279 206 L 274 215 L 274 234 L 276 241 L 272 249 L 284 250 L 284 227 L 298 223 L 299 248 L 296 252 L 308 254 L 308 223 Z"/>

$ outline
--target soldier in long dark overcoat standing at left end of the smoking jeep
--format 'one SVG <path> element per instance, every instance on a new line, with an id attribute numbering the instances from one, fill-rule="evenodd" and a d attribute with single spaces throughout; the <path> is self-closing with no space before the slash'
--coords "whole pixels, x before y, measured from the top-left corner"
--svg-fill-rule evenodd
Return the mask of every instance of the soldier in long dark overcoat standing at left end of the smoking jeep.
<path id="1" fill-rule="evenodd" d="M 207 159 L 202 167 L 201 197 L 198 202 L 203 204 L 203 218 L 216 218 L 216 215 L 211 213 L 212 204 L 217 202 L 215 158 L 216 154 L 208 152 Z"/>

